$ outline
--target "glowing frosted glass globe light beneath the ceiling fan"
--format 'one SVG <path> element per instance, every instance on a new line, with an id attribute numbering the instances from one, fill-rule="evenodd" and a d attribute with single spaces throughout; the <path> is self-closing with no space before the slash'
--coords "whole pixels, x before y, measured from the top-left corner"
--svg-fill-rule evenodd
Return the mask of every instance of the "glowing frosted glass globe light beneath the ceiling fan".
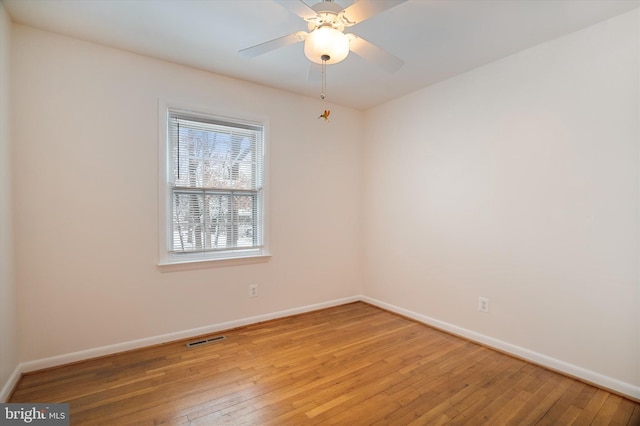
<path id="1" fill-rule="evenodd" d="M 326 64 L 337 64 L 349 54 L 349 37 L 330 26 L 313 30 L 304 41 L 304 54 L 311 62 L 323 63 L 323 57 L 329 57 Z"/>

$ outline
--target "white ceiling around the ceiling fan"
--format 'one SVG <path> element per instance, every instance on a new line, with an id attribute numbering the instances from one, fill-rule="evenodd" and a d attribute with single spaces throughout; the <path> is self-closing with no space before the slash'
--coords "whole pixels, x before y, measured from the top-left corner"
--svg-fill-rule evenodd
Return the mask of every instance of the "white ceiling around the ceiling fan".
<path id="1" fill-rule="evenodd" d="M 293 0 L 299 1 L 299 0 Z M 372 0 L 377 1 L 377 0 Z M 343 7 L 352 0 L 336 0 Z M 306 23 L 272 0 L 2 0 L 14 22 L 319 97 L 302 43 L 238 50 Z M 313 0 L 305 0 L 312 5 Z M 351 54 L 327 67 L 327 100 L 367 109 L 633 8 L 640 0 L 409 0 L 353 32 L 404 61 L 395 74 Z"/>

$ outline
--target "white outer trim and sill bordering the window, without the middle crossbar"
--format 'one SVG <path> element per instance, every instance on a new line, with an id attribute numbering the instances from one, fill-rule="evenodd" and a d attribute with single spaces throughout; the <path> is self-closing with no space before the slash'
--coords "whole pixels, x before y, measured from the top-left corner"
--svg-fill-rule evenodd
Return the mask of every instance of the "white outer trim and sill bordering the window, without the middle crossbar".
<path id="1" fill-rule="evenodd" d="M 170 226 L 172 223 L 172 192 L 169 170 L 169 110 L 180 110 L 198 116 L 220 119 L 228 122 L 246 122 L 263 128 L 263 182 L 261 198 L 263 209 L 263 245 L 260 248 L 234 248 L 213 252 L 172 254 L 169 248 Z M 172 102 L 162 98 L 158 100 L 158 266 L 163 271 L 189 270 L 197 268 L 234 266 L 262 263 L 269 260 L 269 161 L 268 161 L 269 123 L 265 117 L 251 116 L 246 113 L 214 111 L 209 107 L 186 105 L 184 102 Z"/>

